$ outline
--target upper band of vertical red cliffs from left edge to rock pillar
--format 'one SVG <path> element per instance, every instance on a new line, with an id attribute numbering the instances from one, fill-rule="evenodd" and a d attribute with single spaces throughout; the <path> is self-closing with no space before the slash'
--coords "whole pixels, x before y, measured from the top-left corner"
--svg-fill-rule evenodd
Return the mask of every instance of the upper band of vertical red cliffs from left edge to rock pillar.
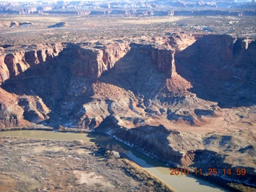
<path id="1" fill-rule="evenodd" d="M 140 51 L 145 56 L 150 54 L 152 64 L 160 72 L 175 73 L 174 50 L 134 43 L 132 46 L 140 47 Z M 54 44 L 34 48 L 36 50 L 21 50 L 14 54 L 2 54 L 0 56 L 0 83 L 6 79 L 15 78 L 28 69 L 31 71 L 26 74 L 27 77 L 49 74 L 57 62 L 62 62 L 62 58 L 70 62 L 68 65 L 71 74 L 99 78 L 104 71 L 111 70 L 114 64 L 130 51 L 132 46 L 128 42 L 95 46 L 96 48 L 74 44 L 64 47 L 62 44 Z M 58 57 L 60 53 L 62 56 Z M 56 59 L 56 57 L 58 58 Z M 58 63 L 58 65 L 61 64 Z M 31 66 L 33 67 L 31 68 Z"/>

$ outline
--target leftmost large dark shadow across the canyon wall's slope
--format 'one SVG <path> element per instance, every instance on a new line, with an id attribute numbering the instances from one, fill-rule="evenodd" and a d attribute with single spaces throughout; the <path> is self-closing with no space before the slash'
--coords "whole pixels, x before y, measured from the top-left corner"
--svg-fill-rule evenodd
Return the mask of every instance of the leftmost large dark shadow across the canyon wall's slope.
<path id="1" fill-rule="evenodd" d="M 58 56 L 46 62 L 39 62 L 30 66 L 26 71 L 6 80 L 2 88 L 10 93 L 38 96 L 50 109 L 48 119 L 40 123 L 58 128 L 59 124 L 74 120 L 75 111 L 82 109 L 82 104 L 90 102 L 91 89 L 87 89 L 85 96 L 78 95 L 74 86 L 81 82 L 82 86 L 90 87 L 94 79 L 74 77 L 70 73 L 72 57 L 66 57 L 62 51 Z M 74 82 L 74 85 L 72 83 Z M 21 99 L 20 99 L 21 100 Z M 19 104 L 20 102 L 18 102 Z M 26 111 L 25 111 L 26 112 Z M 35 114 L 24 112 L 26 120 L 32 119 Z M 50 124 L 49 124 L 50 123 Z"/>

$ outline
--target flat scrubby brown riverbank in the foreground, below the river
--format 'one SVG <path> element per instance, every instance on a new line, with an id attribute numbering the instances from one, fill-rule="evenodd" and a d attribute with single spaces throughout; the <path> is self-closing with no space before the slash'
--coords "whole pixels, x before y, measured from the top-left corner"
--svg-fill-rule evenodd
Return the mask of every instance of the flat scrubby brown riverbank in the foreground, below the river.
<path id="1" fill-rule="evenodd" d="M 92 142 L 0 137 L 1 191 L 174 191 Z"/>

